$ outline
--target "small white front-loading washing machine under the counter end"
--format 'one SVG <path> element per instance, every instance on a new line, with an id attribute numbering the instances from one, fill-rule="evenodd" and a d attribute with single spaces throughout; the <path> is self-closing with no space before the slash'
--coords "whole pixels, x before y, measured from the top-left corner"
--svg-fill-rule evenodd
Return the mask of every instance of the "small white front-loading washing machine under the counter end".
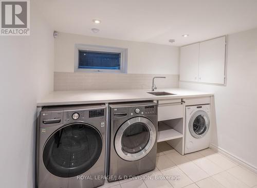
<path id="1" fill-rule="evenodd" d="M 210 104 L 186 106 L 185 154 L 209 147 Z"/>

